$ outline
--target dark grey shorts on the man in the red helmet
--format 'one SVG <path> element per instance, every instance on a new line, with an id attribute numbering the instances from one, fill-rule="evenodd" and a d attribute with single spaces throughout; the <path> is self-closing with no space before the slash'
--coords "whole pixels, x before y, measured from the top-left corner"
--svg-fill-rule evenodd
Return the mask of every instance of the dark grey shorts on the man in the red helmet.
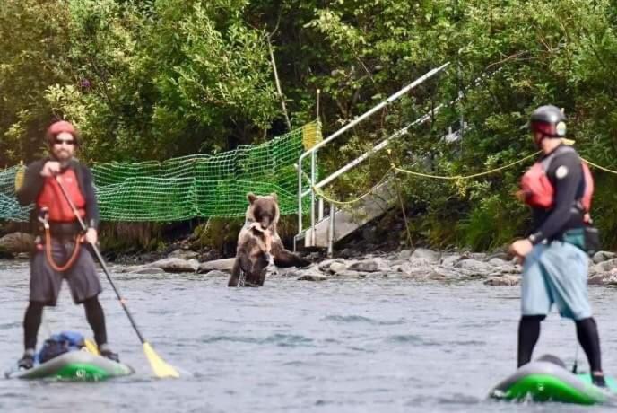
<path id="1" fill-rule="evenodd" d="M 52 238 L 52 256 L 56 265 L 63 266 L 74 249 L 74 240 Z M 55 271 L 48 263 L 45 245 L 37 249 L 30 260 L 30 301 L 55 306 L 62 280 L 66 279 L 76 304 L 95 297 L 102 291 L 99 274 L 94 265 L 88 244 L 82 244 L 79 256 L 71 268 Z"/>

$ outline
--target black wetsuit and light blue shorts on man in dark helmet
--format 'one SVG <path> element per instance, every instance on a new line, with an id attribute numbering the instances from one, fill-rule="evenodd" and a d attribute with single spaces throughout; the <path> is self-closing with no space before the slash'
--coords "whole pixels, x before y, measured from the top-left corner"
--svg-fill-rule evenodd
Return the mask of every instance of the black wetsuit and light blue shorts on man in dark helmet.
<path id="1" fill-rule="evenodd" d="M 570 146 L 560 145 L 541 162 L 554 190 L 552 207 L 533 207 L 534 249 L 525 259 L 522 317 L 518 328 L 518 365 L 531 360 L 540 336 L 540 321 L 556 304 L 562 317 L 575 321 L 577 337 L 592 372 L 601 372 L 600 341 L 587 298 L 587 254 L 569 242 L 569 233 L 582 231 L 585 192 L 581 160 Z"/>

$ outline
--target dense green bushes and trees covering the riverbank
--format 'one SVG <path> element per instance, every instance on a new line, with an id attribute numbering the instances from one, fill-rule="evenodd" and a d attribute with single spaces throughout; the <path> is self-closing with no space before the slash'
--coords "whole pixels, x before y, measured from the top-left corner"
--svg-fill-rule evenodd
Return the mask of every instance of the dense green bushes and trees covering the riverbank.
<path id="1" fill-rule="evenodd" d="M 548 102 L 564 108 L 580 154 L 615 169 L 616 28 L 608 0 L 4 0 L 0 163 L 42 154 L 55 117 L 83 131 L 87 163 L 263 142 L 288 128 L 272 48 L 291 126 L 315 119 L 319 90 L 325 135 L 450 62 L 322 151 L 322 171 L 465 93 L 389 154 L 336 180 L 326 189 L 335 198 L 368 191 L 390 163 L 465 176 L 534 154 L 526 119 Z M 462 139 L 441 139 L 461 120 Z M 486 250 L 521 235 L 528 213 L 513 192 L 528 165 L 475 180 L 398 174 L 413 240 Z M 594 173 L 593 215 L 605 247 L 614 247 L 617 182 Z M 156 245 L 145 233 L 138 237 Z M 197 235 L 216 243 L 211 229 Z"/>

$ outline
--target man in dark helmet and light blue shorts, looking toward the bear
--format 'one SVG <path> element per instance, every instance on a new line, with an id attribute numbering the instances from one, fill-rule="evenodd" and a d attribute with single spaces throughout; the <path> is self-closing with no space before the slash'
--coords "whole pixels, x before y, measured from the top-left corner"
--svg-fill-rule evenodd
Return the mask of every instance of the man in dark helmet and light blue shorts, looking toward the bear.
<path id="1" fill-rule="evenodd" d="M 587 164 L 564 145 L 566 118 L 552 105 L 534 110 L 530 128 L 543 152 L 521 181 L 520 197 L 533 211 L 532 233 L 510 245 L 524 260 L 522 317 L 518 326 L 518 366 L 531 360 L 543 321 L 554 303 L 573 320 L 585 350 L 592 381 L 605 386 L 597 325 L 587 298 L 587 253 L 583 233 L 593 193 Z"/>

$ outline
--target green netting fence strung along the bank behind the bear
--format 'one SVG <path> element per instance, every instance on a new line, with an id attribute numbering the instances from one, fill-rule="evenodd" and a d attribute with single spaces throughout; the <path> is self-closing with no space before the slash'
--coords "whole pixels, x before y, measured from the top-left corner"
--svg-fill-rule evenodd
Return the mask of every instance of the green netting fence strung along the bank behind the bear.
<path id="1" fill-rule="evenodd" d="M 275 192 L 282 215 L 298 212 L 300 154 L 321 140 L 312 122 L 261 145 L 222 154 L 196 154 L 164 162 L 95 163 L 91 170 L 104 221 L 170 222 L 194 217 L 243 216 L 247 193 Z M 0 172 L 0 219 L 26 221 L 31 207 L 17 204 L 15 174 Z M 308 210 L 303 208 L 303 210 Z"/>

